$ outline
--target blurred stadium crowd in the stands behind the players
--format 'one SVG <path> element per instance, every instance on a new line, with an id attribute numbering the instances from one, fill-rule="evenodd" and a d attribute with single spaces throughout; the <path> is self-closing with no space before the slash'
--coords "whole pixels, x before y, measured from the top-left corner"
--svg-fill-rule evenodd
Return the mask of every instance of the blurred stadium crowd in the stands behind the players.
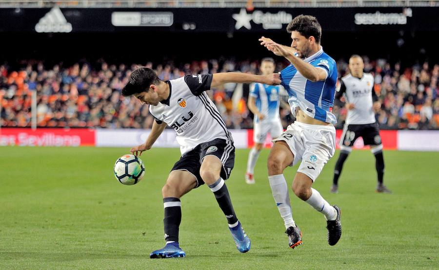
<path id="1" fill-rule="evenodd" d="M 382 129 L 439 128 L 439 64 L 423 63 L 401 68 L 386 60 L 364 57 L 365 72 L 375 76 L 375 91 L 382 102 L 376 119 Z M 176 65 L 146 63 L 159 78 L 170 80 L 185 74 L 216 72 L 258 73 L 259 62 L 212 59 Z M 278 63 L 278 70 L 285 63 Z M 31 126 L 31 93 L 37 93 L 37 126 L 39 127 L 103 127 L 150 128 L 154 118 L 148 106 L 141 106 L 134 97 L 120 92 L 138 65 L 76 63 L 69 67 L 46 67 L 29 61 L 22 69 L 0 66 L 0 124 L 8 127 Z M 338 61 L 339 75 L 348 72 L 348 64 Z M 238 86 L 239 87 L 239 86 Z M 226 125 L 230 128 L 251 128 L 252 115 L 247 109 L 248 87 L 235 91 L 237 85 L 209 91 Z M 284 97 L 285 100 L 287 97 Z M 343 125 L 347 109 L 335 101 L 333 112 L 337 127 Z M 282 123 L 291 123 L 288 109 L 281 108 Z"/>

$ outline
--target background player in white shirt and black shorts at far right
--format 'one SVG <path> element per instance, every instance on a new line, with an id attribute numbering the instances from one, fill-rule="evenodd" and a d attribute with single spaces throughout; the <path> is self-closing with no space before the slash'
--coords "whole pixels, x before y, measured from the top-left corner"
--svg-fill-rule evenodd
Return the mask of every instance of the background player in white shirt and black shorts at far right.
<path id="1" fill-rule="evenodd" d="M 334 168 L 334 180 L 331 188 L 332 193 L 339 192 L 339 176 L 343 163 L 352 152 L 352 146 L 358 137 L 362 137 L 364 145 L 370 145 L 370 151 L 375 156 L 375 168 L 377 170 L 379 193 L 392 193 L 383 185 L 384 158 L 382 155 L 381 137 L 379 136 L 378 123 L 375 120 L 374 110 L 379 110 L 381 103 L 374 89 L 374 76 L 364 73 L 364 62 L 361 56 L 354 54 L 349 59 L 349 71 L 341 78 L 340 90 L 336 93 L 339 99 L 345 97 L 348 109 L 343 134 L 340 138 L 340 155 Z"/>

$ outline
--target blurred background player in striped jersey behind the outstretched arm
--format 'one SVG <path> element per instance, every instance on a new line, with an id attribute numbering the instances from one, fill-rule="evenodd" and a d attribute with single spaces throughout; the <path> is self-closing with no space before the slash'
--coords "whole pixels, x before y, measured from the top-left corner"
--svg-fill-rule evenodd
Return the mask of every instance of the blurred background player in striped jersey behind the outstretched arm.
<path id="1" fill-rule="evenodd" d="M 262 75 L 273 74 L 275 71 L 273 58 L 263 58 L 259 69 Z M 247 172 L 245 173 L 245 182 L 247 184 L 255 183 L 253 172 L 268 132 L 270 132 L 272 138 L 278 138 L 283 132 L 279 116 L 280 88 L 281 86 L 260 83 L 251 86 L 248 95 L 248 108 L 254 114 L 253 141 L 255 145 L 248 154 Z"/>

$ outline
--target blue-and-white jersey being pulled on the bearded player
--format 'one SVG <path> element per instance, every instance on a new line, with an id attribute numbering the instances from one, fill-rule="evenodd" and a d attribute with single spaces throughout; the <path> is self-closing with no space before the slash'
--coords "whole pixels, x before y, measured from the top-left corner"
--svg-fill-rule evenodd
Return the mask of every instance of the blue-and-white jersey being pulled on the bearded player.
<path id="1" fill-rule="evenodd" d="M 314 119 L 337 124 L 337 118 L 331 113 L 337 84 L 337 64 L 328 54 L 319 52 L 303 59 L 326 73 L 324 81 L 312 82 L 300 74 L 293 65 L 280 73 L 281 85 L 287 90 L 291 112 L 296 117 L 296 108 Z"/>

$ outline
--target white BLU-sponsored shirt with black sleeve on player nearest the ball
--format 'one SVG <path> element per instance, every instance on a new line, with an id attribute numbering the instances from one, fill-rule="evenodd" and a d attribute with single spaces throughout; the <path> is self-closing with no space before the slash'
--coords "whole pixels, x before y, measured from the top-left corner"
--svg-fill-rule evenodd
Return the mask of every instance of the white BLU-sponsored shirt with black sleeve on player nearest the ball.
<path id="1" fill-rule="evenodd" d="M 233 143 L 220 112 L 205 92 L 210 90 L 212 78 L 212 74 L 186 75 L 167 81 L 168 99 L 149 108 L 158 123 L 175 129 L 181 155 L 215 139 Z"/>

